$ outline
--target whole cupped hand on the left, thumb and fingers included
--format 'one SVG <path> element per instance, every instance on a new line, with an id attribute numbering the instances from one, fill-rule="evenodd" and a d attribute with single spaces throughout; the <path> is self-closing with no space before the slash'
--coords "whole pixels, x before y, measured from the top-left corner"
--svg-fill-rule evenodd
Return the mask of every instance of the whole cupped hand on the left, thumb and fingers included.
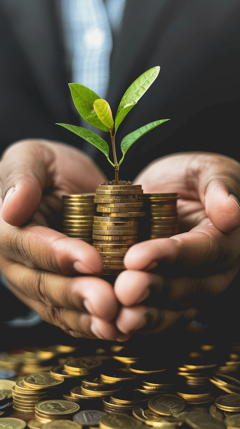
<path id="1" fill-rule="evenodd" d="M 0 161 L 0 270 L 12 292 L 48 323 L 75 337 L 121 341 L 129 335 L 111 322 L 118 311 L 113 288 L 97 277 L 102 257 L 51 229 L 63 194 L 94 192 L 104 180 L 73 147 L 38 139 L 10 146 Z"/>

